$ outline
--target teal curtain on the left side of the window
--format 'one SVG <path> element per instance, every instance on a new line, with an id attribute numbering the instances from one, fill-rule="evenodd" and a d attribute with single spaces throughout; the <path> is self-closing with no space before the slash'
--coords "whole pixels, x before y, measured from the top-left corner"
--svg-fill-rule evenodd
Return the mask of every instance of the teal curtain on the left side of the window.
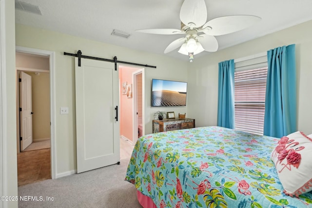
<path id="1" fill-rule="evenodd" d="M 217 125 L 234 129 L 234 59 L 219 63 Z"/>

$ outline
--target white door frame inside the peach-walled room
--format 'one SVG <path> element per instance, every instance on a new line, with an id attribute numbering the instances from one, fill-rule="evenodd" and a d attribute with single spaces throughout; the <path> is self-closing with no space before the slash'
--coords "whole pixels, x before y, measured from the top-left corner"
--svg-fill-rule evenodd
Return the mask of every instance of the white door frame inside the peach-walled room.
<path id="1" fill-rule="evenodd" d="M 136 81 L 136 76 L 138 74 L 142 74 L 142 135 L 145 135 L 145 74 L 144 74 L 144 68 L 138 68 L 137 71 L 134 71 L 132 73 L 132 83 L 133 83 L 133 99 L 132 99 L 132 129 L 133 129 L 133 141 L 132 144 L 135 145 L 137 143 L 137 81 Z"/>

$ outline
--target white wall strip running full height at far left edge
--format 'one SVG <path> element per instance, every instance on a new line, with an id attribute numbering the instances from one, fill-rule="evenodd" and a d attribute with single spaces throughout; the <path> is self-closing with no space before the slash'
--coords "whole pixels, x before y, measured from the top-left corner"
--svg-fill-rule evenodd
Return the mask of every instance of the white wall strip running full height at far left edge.
<path id="1" fill-rule="evenodd" d="M 14 1 L 0 0 L 0 10 L 0 193 L 1 196 L 17 196 Z M 0 207 L 18 207 L 18 202 L 0 201 Z"/>

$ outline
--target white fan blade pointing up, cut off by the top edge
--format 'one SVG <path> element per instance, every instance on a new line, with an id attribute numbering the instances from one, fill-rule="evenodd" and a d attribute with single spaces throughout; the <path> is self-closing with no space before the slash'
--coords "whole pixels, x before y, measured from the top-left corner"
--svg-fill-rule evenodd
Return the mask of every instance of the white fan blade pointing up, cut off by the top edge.
<path id="1" fill-rule="evenodd" d="M 191 29 L 205 24 L 207 21 L 205 0 L 184 0 L 180 10 L 180 20 Z"/>

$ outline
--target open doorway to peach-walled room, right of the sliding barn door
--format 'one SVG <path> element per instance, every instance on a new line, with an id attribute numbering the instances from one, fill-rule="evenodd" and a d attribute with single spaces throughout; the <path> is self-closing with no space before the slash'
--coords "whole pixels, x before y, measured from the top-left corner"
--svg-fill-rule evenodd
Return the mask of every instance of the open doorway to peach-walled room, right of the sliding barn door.
<path id="1" fill-rule="evenodd" d="M 119 65 L 120 159 L 130 158 L 144 126 L 144 68 Z"/>

